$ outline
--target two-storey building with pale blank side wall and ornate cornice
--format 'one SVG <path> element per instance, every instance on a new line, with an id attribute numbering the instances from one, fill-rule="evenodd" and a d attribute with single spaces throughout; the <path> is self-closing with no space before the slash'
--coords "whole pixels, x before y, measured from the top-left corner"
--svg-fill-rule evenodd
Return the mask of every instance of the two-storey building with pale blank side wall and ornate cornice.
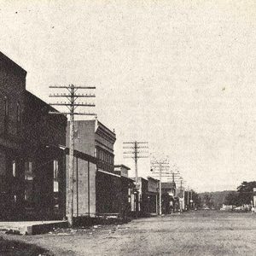
<path id="1" fill-rule="evenodd" d="M 121 186 L 120 176 L 114 173 L 113 167 L 113 144 L 116 140 L 113 131 L 110 131 L 98 120 L 75 121 L 75 150 L 82 154 L 90 155 L 95 159 L 95 164 L 90 166 L 75 166 L 78 173 L 80 188 L 84 186 L 84 191 L 90 191 L 90 205 L 84 203 L 84 210 L 80 212 L 86 214 L 90 207 L 90 215 L 96 216 L 102 213 L 118 213 L 119 209 L 119 188 Z M 69 125 L 67 126 L 67 147 L 69 144 Z M 68 162 L 68 159 L 67 159 Z M 90 183 L 90 189 L 86 185 Z M 83 185 L 82 185 L 83 184 Z M 74 193 L 76 194 L 76 193 Z M 88 193 L 85 193 L 88 195 Z M 86 195 L 80 194 L 80 203 L 88 201 Z"/>

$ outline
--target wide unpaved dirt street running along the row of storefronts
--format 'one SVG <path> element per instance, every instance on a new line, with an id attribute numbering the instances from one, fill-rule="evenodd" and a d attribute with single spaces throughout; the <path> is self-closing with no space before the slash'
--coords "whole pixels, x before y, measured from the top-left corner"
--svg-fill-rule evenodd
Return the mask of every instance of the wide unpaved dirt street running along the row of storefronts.
<path id="1" fill-rule="evenodd" d="M 255 255 L 256 214 L 186 212 L 91 230 L 7 236 L 55 255 Z"/>

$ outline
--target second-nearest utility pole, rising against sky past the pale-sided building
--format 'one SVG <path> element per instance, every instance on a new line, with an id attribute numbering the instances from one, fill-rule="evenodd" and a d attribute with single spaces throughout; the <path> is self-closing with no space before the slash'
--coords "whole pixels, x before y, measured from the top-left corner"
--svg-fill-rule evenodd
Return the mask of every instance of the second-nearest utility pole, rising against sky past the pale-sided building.
<path id="1" fill-rule="evenodd" d="M 138 173 L 137 173 L 137 160 L 139 158 L 148 158 L 148 152 L 140 150 L 141 148 L 148 149 L 147 142 L 125 142 L 124 146 L 124 154 L 125 158 L 132 158 L 135 163 L 135 183 L 136 188 L 138 188 Z M 128 150 L 127 150 L 128 149 Z M 131 151 L 129 151 L 131 149 Z M 147 155 L 144 155 L 147 154 Z"/>

